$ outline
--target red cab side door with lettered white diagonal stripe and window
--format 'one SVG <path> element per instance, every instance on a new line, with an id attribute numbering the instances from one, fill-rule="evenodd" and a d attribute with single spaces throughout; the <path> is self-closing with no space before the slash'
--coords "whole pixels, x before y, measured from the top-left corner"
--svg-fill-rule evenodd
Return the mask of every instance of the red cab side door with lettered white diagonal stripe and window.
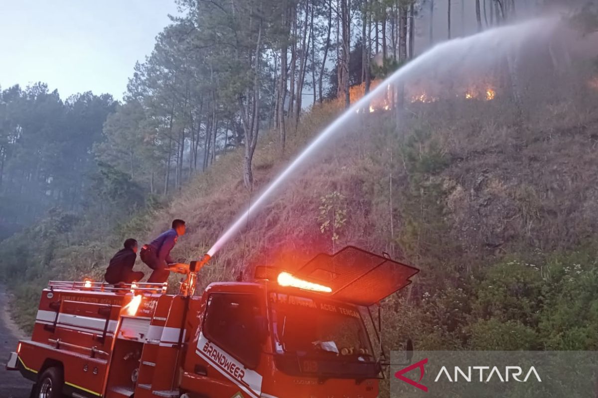
<path id="1" fill-rule="evenodd" d="M 254 294 L 209 295 L 196 347 L 196 368 L 202 372 L 205 366 L 198 392 L 209 397 L 260 397 L 261 319 L 263 308 Z"/>

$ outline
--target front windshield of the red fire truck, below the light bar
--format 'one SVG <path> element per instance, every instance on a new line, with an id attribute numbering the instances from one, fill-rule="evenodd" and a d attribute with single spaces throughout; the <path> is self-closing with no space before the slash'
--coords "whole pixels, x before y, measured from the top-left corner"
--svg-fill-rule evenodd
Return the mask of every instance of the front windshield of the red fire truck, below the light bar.
<path id="1" fill-rule="evenodd" d="M 281 293 L 271 293 L 270 303 L 279 353 L 374 362 L 357 307 Z"/>

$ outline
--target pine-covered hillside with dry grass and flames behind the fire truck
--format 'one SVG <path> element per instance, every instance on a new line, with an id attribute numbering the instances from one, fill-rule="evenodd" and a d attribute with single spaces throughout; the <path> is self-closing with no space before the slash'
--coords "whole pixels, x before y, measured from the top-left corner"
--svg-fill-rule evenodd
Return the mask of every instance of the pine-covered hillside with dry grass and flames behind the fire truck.
<path id="1" fill-rule="evenodd" d="M 440 2 L 181 0 L 184 17 L 135 67 L 123 103 L 91 94 L 62 103 L 37 86 L 5 90 L 0 109 L 23 103 L 23 115 L 35 118 L 2 117 L 11 121 L 3 134 L 12 134 L 2 141 L 10 154 L 2 205 L 9 193 L 42 198 L 35 213 L 5 213 L 38 220 L 1 243 L 20 324 L 30 328 L 48 279 L 100 279 L 124 238 L 147 242 L 173 218 L 188 225 L 175 257 L 199 259 L 347 105 L 417 55 L 418 41 L 456 36 L 458 23 L 441 39 L 428 27 L 416 33 L 424 18 L 451 21 L 450 12 L 430 15 Z M 528 3 L 463 7 L 484 30 L 540 12 Z M 585 7 L 561 16 L 576 42 L 596 37 L 596 5 Z M 437 350 L 597 350 L 598 47 L 583 57 L 572 45 L 547 48 L 518 69 L 527 74 L 501 59 L 487 76 L 468 76 L 482 88 L 455 80 L 440 94 L 403 87 L 390 102 L 372 101 L 227 242 L 202 284 L 240 273 L 248 280 L 257 264 L 292 267 L 355 245 L 422 270 L 383 303 L 391 349 L 411 337 Z M 56 132 L 42 104 L 62 112 Z M 36 119 L 41 127 L 26 125 Z M 45 146 L 35 134 L 63 144 Z M 87 146 L 68 144 L 80 135 Z M 25 147 L 45 154 L 40 161 L 68 161 L 60 167 L 71 174 L 19 166 L 15 149 Z M 32 190 L 21 190 L 25 181 Z"/>

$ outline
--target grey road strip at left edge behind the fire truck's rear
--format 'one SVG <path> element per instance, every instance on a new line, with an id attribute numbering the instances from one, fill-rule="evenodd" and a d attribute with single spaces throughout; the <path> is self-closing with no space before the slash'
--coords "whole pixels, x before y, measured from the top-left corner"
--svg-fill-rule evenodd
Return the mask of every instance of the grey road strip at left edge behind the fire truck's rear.
<path id="1" fill-rule="evenodd" d="M 8 297 L 0 286 L 0 398 L 29 398 L 31 383 L 19 372 L 5 370 L 10 351 L 17 347 L 20 331 L 8 316 Z"/>

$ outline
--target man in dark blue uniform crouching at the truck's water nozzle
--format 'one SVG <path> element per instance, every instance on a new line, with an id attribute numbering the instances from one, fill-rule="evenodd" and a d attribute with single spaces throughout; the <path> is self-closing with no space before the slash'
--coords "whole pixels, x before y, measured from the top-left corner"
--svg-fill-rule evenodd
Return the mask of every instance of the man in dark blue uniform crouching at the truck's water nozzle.
<path id="1" fill-rule="evenodd" d="M 170 273 L 168 264 L 175 263 L 170 258 L 170 251 L 176 245 L 179 236 L 185 235 L 185 221 L 172 221 L 172 228 L 163 232 L 148 245 L 141 248 L 141 261 L 154 270 L 148 283 L 164 283 Z"/>

